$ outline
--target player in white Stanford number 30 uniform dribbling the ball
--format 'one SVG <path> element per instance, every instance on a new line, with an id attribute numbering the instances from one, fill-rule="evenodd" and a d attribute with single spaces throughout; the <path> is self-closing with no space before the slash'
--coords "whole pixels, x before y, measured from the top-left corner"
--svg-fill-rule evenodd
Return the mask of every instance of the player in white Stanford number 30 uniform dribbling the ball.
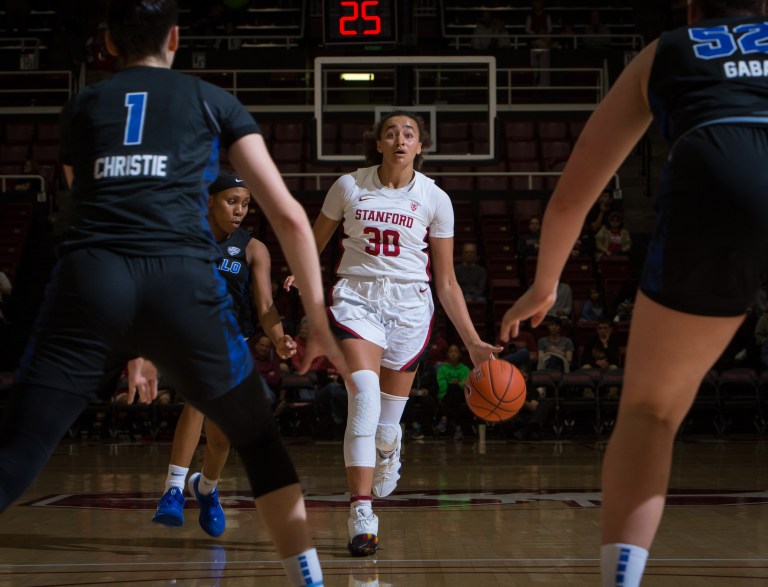
<path id="1" fill-rule="evenodd" d="M 456 281 L 450 198 L 416 171 L 429 146 L 418 115 L 395 111 L 382 118 L 364 137 L 369 167 L 334 183 L 313 227 L 322 251 L 344 223 L 330 316 L 357 389 L 349 395 L 344 435 L 348 548 L 356 556 L 378 547 L 371 497 L 389 495 L 400 478 L 400 418 L 432 332 L 430 269 L 472 361 L 477 365 L 501 350 L 480 340 Z M 286 286 L 291 283 L 288 278 Z"/>

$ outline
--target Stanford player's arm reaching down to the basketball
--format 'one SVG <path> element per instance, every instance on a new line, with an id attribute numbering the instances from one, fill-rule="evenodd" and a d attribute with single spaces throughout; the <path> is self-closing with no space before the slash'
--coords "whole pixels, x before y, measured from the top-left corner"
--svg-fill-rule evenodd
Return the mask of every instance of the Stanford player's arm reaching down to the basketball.
<path id="1" fill-rule="evenodd" d="M 453 269 L 453 237 L 429 239 L 429 248 L 432 257 L 432 266 L 435 276 L 435 292 L 437 298 L 448 314 L 456 331 L 459 333 L 464 346 L 467 347 L 472 362 L 479 365 L 482 361 L 490 359 L 493 353 L 502 351 L 502 347 L 493 346 L 483 342 L 475 330 L 474 324 L 467 311 L 467 303 L 459 282 L 456 281 L 456 272 Z"/>

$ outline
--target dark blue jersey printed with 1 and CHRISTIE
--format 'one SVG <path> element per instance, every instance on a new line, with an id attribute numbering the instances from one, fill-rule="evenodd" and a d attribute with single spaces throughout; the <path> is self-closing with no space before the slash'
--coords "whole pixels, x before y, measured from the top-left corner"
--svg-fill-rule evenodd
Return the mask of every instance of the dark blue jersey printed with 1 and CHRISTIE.
<path id="1" fill-rule="evenodd" d="M 84 88 L 62 112 L 75 204 L 62 252 L 215 261 L 206 213 L 219 147 L 257 132 L 234 96 L 169 69 L 130 67 Z"/>

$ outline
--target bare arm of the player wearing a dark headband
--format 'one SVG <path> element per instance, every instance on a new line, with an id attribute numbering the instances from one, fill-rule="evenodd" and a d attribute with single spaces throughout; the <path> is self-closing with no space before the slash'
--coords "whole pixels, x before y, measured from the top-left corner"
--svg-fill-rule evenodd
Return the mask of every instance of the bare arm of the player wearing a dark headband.
<path id="1" fill-rule="evenodd" d="M 296 354 L 296 343 L 283 331 L 280 314 L 272 299 L 272 259 L 269 251 L 264 243 L 252 238 L 248 241 L 245 255 L 251 270 L 251 292 L 259 324 L 275 345 L 280 358 L 288 359 Z"/>

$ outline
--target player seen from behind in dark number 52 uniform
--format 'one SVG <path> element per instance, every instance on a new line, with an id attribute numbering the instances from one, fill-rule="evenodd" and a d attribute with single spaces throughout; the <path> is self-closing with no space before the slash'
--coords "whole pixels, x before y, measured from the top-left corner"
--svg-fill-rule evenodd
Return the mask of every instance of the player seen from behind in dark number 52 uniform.
<path id="1" fill-rule="evenodd" d="M 584 218 L 655 116 L 670 143 L 603 467 L 603 587 L 637 587 L 661 520 L 675 434 L 759 289 L 768 256 L 764 0 L 691 0 L 586 125 L 542 223 L 536 279 L 506 313 L 538 325 Z"/>

